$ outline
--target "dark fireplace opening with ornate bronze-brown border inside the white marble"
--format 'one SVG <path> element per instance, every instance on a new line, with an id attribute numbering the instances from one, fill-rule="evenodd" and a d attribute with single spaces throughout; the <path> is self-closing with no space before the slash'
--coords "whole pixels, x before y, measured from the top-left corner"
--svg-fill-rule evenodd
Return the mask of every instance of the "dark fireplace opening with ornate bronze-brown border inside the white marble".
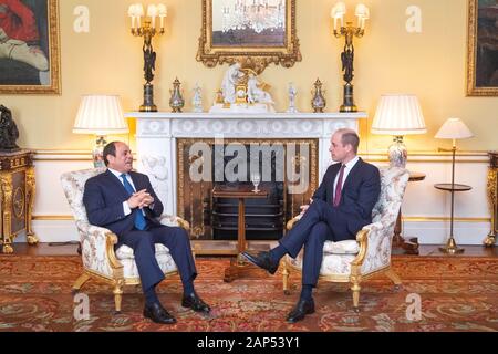
<path id="1" fill-rule="evenodd" d="M 215 139 L 179 138 L 178 216 L 190 222 L 194 239 L 236 240 L 237 200 L 214 198 L 212 187 L 251 184 L 249 176 L 257 170 L 270 196 L 246 201 L 246 238 L 280 239 L 287 220 L 300 212 L 299 207 L 308 204 L 317 188 L 318 146 L 318 139 L 226 139 L 217 144 Z M 193 169 L 205 178 L 191 176 Z M 235 176 L 227 176 L 230 171 Z"/>

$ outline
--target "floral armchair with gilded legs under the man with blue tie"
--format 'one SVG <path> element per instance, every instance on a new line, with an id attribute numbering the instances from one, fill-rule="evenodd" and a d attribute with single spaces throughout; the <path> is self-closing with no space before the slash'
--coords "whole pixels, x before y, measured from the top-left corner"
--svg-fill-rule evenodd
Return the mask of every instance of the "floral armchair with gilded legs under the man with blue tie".
<path id="1" fill-rule="evenodd" d="M 89 223 L 83 205 L 83 191 L 89 178 L 105 171 L 104 168 L 92 168 L 65 173 L 61 176 L 61 184 L 68 198 L 71 211 L 80 233 L 83 273 L 75 281 L 73 291 L 79 291 L 91 278 L 97 278 L 113 285 L 116 312 L 121 311 L 124 285 L 141 283 L 133 249 L 123 244 L 114 250 L 117 236 L 110 230 Z M 160 222 L 168 226 L 180 226 L 188 230 L 187 221 L 174 217 L 163 216 Z M 167 247 L 156 243 L 156 259 L 165 274 L 177 272 L 176 264 Z"/>

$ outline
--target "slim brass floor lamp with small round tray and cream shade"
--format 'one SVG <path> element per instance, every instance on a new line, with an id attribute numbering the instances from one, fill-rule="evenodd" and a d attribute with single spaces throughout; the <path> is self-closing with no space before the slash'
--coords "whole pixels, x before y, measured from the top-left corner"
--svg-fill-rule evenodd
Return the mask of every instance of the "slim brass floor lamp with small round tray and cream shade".
<path id="1" fill-rule="evenodd" d="M 465 185 L 456 185 L 455 184 L 455 154 L 456 154 L 456 139 L 465 139 L 473 137 L 474 134 L 469 131 L 469 128 L 458 118 L 449 118 L 443 124 L 439 131 L 436 134 L 436 138 L 439 139 L 452 139 L 452 184 L 447 187 L 444 185 L 436 185 L 435 187 L 443 190 L 448 190 L 452 194 L 452 216 L 450 216 L 450 226 L 449 226 L 449 238 L 445 247 L 439 248 L 439 250 L 444 253 L 461 253 L 463 249 L 459 249 L 456 244 L 455 238 L 453 236 L 453 220 L 454 220 L 454 210 L 455 210 L 455 191 L 469 190 L 469 186 Z M 438 187 L 439 186 L 439 187 Z M 443 186 L 443 187 L 442 187 Z M 457 188 L 460 187 L 460 188 Z"/>

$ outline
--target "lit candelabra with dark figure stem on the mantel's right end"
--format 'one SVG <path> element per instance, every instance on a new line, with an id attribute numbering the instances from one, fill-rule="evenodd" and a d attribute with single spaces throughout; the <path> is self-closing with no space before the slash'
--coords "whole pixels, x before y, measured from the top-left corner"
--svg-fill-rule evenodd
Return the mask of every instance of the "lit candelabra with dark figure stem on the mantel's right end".
<path id="1" fill-rule="evenodd" d="M 362 38 L 365 33 L 365 22 L 370 19 L 370 10 L 363 3 L 356 6 L 355 15 L 357 18 L 356 27 L 353 22 L 346 22 L 344 27 L 344 15 L 346 13 L 346 7 L 344 2 L 338 2 L 331 10 L 330 17 L 334 20 L 334 35 L 336 38 L 344 37 L 345 44 L 344 51 L 341 53 L 342 71 L 344 72 L 344 100 L 341 105 L 340 112 L 357 112 L 357 107 L 354 104 L 353 98 L 353 61 L 354 61 L 354 46 L 353 37 Z"/>

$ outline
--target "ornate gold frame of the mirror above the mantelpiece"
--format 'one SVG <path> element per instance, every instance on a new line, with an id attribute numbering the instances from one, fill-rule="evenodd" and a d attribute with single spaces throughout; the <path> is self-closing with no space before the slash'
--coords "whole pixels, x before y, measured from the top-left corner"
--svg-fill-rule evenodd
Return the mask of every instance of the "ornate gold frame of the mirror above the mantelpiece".
<path id="1" fill-rule="evenodd" d="M 214 24 L 219 28 L 217 22 L 219 22 L 224 11 L 221 8 L 222 0 L 201 0 L 203 28 L 197 61 L 203 62 L 208 67 L 239 62 L 242 67 L 250 67 L 258 74 L 271 63 L 291 67 L 295 62 L 300 62 L 302 56 L 295 30 L 295 0 L 281 1 L 286 11 L 282 33 L 272 31 L 271 35 L 263 32 L 245 35 L 243 31 L 250 30 L 231 30 L 229 33 L 231 38 L 225 37 L 224 40 L 219 30 L 212 30 Z M 215 11 L 217 12 L 214 20 Z M 236 33 L 237 31 L 239 33 Z"/>

